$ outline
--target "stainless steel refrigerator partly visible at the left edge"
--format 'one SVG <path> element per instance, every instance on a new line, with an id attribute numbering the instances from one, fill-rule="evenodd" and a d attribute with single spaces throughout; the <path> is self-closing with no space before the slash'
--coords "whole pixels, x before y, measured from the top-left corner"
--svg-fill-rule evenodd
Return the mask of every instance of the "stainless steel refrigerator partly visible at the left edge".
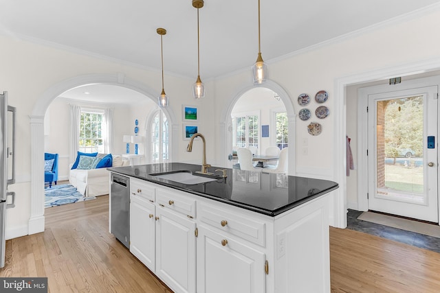
<path id="1" fill-rule="evenodd" d="M 15 207 L 15 108 L 8 106 L 8 93 L 0 94 L 0 268 L 5 266 L 6 209 Z"/>

